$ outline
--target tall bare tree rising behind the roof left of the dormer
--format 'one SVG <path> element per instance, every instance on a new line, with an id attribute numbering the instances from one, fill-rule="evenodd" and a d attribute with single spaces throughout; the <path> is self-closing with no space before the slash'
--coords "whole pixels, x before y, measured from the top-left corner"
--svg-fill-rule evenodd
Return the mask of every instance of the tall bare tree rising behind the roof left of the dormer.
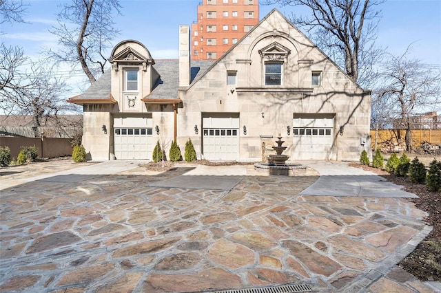
<path id="1" fill-rule="evenodd" d="M 107 58 L 104 52 L 119 34 L 113 28 L 113 12 L 120 13 L 119 0 L 72 0 L 58 14 L 57 27 L 51 32 L 59 36 L 62 49 L 49 50 L 58 62 L 80 64 L 90 83 L 104 73 Z"/>

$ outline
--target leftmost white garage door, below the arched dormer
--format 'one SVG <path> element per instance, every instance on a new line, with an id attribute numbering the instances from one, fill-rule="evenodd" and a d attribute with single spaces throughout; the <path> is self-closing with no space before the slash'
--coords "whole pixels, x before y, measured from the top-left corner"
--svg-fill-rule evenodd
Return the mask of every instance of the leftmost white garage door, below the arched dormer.
<path id="1" fill-rule="evenodd" d="M 151 128 L 115 128 L 114 148 L 116 159 L 147 160 L 152 155 Z"/>

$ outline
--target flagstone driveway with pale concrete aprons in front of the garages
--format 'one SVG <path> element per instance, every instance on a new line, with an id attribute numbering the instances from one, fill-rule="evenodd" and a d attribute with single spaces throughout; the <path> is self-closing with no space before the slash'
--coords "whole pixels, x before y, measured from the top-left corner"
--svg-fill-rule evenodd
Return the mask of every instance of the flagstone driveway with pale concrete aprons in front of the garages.
<path id="1" fill-rule="evenodd" d="M 0 291 L 439 292 L 396 266 L 431 230 L 399 188 L 309 163 L 320 178 L 252 166 L 154 173 L 122 161 L 0 169 Z"/>

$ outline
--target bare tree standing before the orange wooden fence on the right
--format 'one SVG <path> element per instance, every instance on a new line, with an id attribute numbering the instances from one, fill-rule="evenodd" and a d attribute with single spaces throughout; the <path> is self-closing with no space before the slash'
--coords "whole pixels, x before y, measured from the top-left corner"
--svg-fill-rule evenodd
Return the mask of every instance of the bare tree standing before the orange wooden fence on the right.
<path id="1" fill-rule="evenodd" d="M 373 91 L 372 108 L 377 109 L 377 113 L 380 113 L 378 109 L 389 113 L 395 124 L 393 127 L 406 131 L 406 148 L 412 152 L 411 118 L 437 107 L 440 109 L 441 72 L 424 66 L 419 60 L 407 58 L 408 53 L 409 48 L 401 56 L 389 54 L 382 80 Z"/>

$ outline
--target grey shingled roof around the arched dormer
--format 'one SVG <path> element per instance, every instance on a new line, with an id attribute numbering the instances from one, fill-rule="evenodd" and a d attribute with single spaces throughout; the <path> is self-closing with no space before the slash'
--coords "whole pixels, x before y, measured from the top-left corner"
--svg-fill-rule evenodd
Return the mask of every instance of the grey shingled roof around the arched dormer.
<path id="1" fill-rule="evenodd" d="M 161 75 L 152 89 L 152 93 L 144 97 L 143 100 L 174 100 L 178 97 L 179 89 L 179 60 L 164 59 L 156 60 L 154 68 Z M 195 80 L 201 76 L 214 61 L 193 61 L 190 69 L 190 80 Z M 111 69 L 107 69 L 104 74 L 96 80 L 83 94 L 69 98 L 69 102 L 75 104 L 83 103 L 114 103 L 111 92 Z"/>

